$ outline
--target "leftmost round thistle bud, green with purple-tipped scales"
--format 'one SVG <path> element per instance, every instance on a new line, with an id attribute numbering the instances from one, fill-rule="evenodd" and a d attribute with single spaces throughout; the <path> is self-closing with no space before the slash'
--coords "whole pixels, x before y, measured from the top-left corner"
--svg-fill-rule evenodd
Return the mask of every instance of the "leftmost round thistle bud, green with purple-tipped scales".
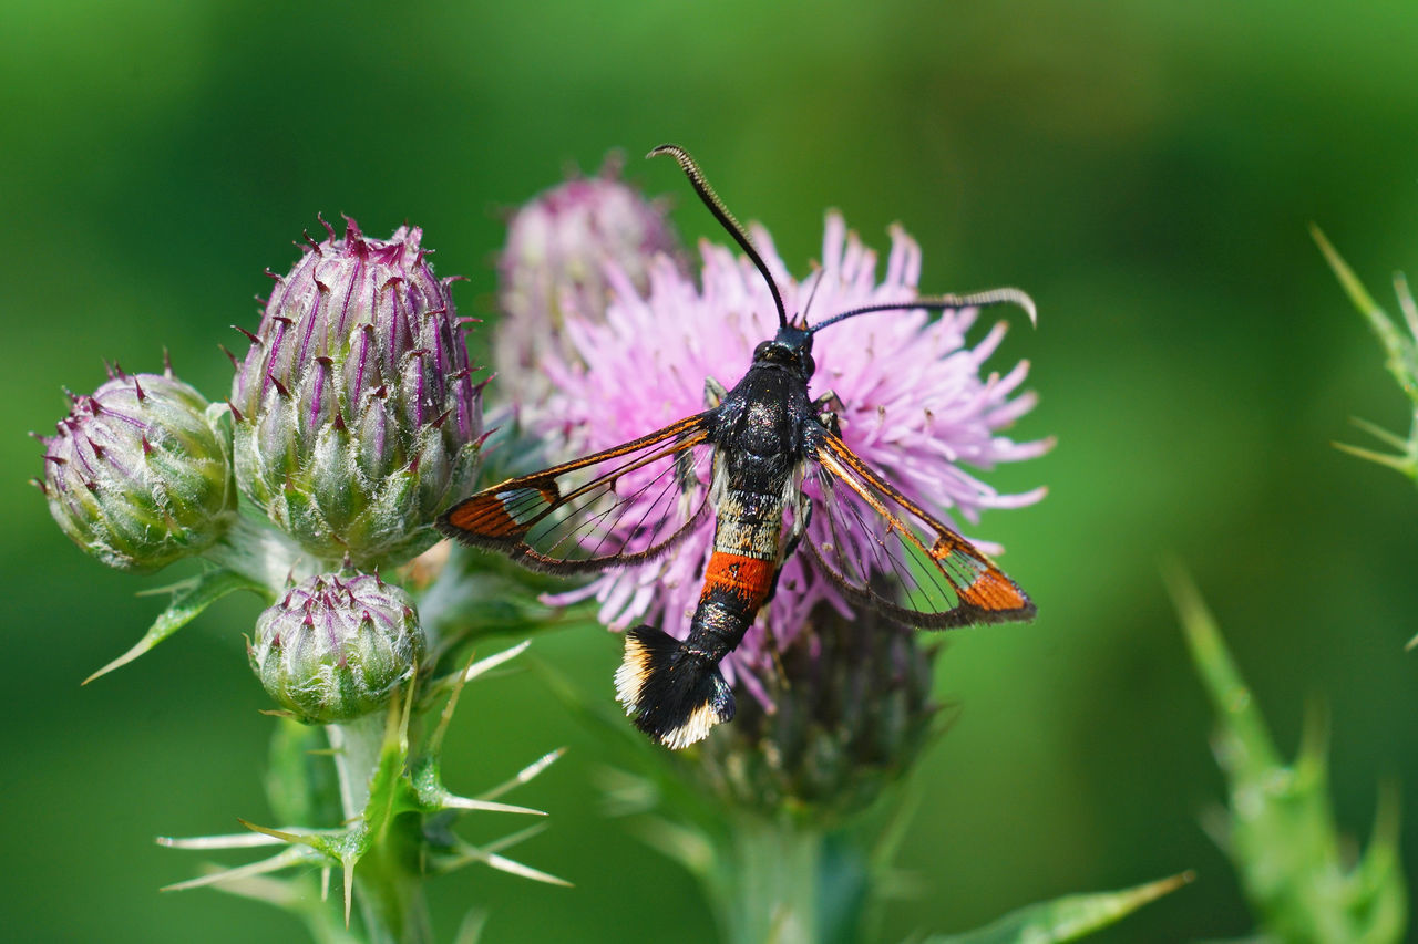
<path id="1" fill-rule="evenodd" d="M 210 547 L 235 519 L 227 435 L 200 393 L 163 374 L 123 374 L 74 397 L 41 438 L 50 513 L 119 570 L 157 570 Z"/>

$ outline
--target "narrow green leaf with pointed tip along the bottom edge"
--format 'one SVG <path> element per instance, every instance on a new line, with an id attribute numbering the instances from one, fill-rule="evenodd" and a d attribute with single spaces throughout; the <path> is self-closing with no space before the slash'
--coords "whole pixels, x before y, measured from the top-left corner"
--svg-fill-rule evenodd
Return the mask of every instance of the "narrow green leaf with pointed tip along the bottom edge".
<path id="1" fill-rule="evenodd" d="M 1099 931 L 1132 914 L 1149 901 L 1191 882 L 1184 872 L 1170 879 L 1139 884 L 1122 892 L 1071 894 L 1052 901 L 1029 904 L 1012 911 L 994 924 L 964 934 L 936 935 L 926 944 L 1052 944 L 1073 941 Z"/>

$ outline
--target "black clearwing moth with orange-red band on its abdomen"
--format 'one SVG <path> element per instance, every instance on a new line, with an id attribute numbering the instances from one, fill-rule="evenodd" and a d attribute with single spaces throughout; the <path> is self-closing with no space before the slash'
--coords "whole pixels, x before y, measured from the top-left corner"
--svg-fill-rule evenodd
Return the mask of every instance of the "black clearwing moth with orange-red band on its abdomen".
<path id="1" fill-rule="evenodd" d="M 676 145 L 649 156 L 679 162 L 695 193 L 763 275 L 778 330 L 753 352 L 732 388 L 706 380 L 703 412 L 613 449 L 508 479 L 452 506 L 440 530 L 526 567 L 584 574 L 641 564 L 675 550 L 715 519 L 703 588 L 681 641 L 649 625 L 625 634 L 617 699 L 635 726 L 671 748 L 733 719 L 719 663 L 773 597 L 783 563 L 801 547 L 852 604 L 909 625 L 943 629 L 1029 619 L 1035 607 L 968 540 L 869 468 L 842 441 L 831 393 L 814 398 L 813 342 L 849 318 L 1012 303 L 1018 289 L 937 295 L 790 319 L 749 234 Z M 803 488 L 817 481 L 818 498 Z M 817 527 L 811 522 L 820 520 Z"/>

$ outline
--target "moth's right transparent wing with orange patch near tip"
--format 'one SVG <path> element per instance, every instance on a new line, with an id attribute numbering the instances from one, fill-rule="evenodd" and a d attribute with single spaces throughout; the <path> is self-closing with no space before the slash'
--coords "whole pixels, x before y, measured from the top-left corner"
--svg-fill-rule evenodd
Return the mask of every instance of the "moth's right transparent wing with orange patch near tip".
<path id="1" fill-rule="evenodd" d="M 1034 604 L 1012 580 L 839 437 L 820 427 L 811 441 L 821 498 L 804 543 L 851 600 L 937 629 L 1034 617 Z"/>

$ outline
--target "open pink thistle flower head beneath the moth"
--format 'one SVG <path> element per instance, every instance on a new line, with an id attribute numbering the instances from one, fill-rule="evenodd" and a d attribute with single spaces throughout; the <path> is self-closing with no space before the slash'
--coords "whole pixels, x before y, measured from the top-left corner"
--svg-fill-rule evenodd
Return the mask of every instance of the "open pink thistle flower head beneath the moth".
<path id="1" fill-rule="evenodd" d="M 892 231 L 886 271 L 878 276 L 876 254 L 848 232 L 838 214 L 830 214 L 822 268 L 803 282 L 787 274 L 761 227 L 752 232 L 787 310 L 801 312 L 811 296 L 810 323 L 917 295 L 920 249 L 900 228 Z M 706 377 L 732 387 L 743 376 L 754 346 L 778 327 L 769 286 L 747 259 L 725 248 L 705 244 L 702 257 L 700 285 L 662 257 L 651 268 L 644 296 L 623 272 L 608 266 L 613 300 L 604 318 L 567 310 L 564 333 L 576 356 L 549 350 L 542 361 L 552 394 L 523 414 L 529 432 L 540 434 L 554 444 L 549 446 L 553 452 L 566 455 L 610 448 L 702 411 Z M 970 347 L 966 333 L 976 316 L 976 309 L 947 310 L 940 318 L 903 310 L 834 325 L 817 337 L 817 373 L 810 390 L 814 397 L 824 391 L 838 395 L 844 404 L 838 414 L 842 438 L 865 462 L 909 498 L 940 510 L 947 522 L 967 524 L 977 523 L 986 509 L 1037 502 L 1044 489 L 1001 495 L 964 466 L 990 469 L 1041 455 L 1051 445 L 1001 435 L 1034 405 L 1031 393 L 1020 393 L 1028 364 L 981 376 L 1005 325 L 995 325 Z M 804 489 L 814 495 L 813 476 Z M 713 522 L 706 517 L 665 558 L 607 573 L 556 600 L 594 597 L 601 604 L 601 621 L 615 629 L 644 621 L 683 638 L 712 536 Z M 767 700 L 757 676 L 773 670 L 771 652 L 786 649 L 820 604 L 851 615 L 841 592 L 805 566 L 803 554 L 794 554 L 783 566 L 773 602 L 726 659 L 730 678 L 736 675 Z M 771 646 L 766 645 L 766 634 L 773 635 Z"/>

